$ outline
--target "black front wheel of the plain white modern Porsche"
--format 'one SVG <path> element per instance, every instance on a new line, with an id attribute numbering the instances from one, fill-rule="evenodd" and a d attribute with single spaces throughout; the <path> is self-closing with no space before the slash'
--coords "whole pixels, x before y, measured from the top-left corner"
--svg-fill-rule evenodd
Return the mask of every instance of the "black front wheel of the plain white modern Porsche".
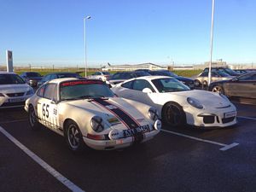
<path id="1" fill-rule="evenodd" d="M 166 125 L 178 127 L 186 124 L 186 114 L 176 102 L 167 102 L 162 109 L 162 119 Z"/>

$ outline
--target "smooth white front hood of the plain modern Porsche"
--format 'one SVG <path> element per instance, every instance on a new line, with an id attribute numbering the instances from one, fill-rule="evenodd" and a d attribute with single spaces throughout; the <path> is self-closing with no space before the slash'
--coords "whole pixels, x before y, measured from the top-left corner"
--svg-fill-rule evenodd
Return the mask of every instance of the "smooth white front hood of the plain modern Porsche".
<path id="1" fill-rule="evenodd" d="M 180 92 L 172 92 L 170 93 L 175 96 L 183 96 L 183 101 L 186 102 L 188 97 L 195 98 L 201 104 L 207 108 L 223 108 L 230 105 L 230 101 L 225 100 L 222 96 L 219 96 L 218 93 L 214 93 L 207 90 L 188 90 L 188 91 L 180 91 Z M 189 103 L 188 103 L 189 105 Z"/>

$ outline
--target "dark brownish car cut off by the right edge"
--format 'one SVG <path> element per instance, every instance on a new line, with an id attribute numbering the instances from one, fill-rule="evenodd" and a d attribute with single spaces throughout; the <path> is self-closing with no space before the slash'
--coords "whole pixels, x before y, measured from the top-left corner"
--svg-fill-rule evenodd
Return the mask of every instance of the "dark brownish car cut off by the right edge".
<path id="1" fill-rule="evenodd" d="M 256 99 L 256 73 L 246 73 L 234 79 L 212 82 L 209 90 L 225 96 L 239 96 Z"/>

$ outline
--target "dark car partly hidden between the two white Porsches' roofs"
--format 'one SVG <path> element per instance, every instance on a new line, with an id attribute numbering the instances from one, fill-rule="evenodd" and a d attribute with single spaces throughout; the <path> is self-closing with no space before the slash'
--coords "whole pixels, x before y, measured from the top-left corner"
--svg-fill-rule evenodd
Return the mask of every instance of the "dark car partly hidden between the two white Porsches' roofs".
<path id="1" fill-rule="evenodd" d="M 143 71 L 118 72 L 118 73 L 114 73 L 113 76 L 110 79 L 108 79 L 108 83 L 119 84 L 127 79 L 138 78 L 143 76 L 150 76 L 150 74 Z"/>

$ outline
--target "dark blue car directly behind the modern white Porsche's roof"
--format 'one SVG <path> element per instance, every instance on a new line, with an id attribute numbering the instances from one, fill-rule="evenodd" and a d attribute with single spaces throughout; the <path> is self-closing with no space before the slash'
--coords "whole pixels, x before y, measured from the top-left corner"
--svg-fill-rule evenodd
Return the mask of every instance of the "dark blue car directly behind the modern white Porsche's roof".
<path id="1" fill-rule="evenodd" d="M 186 84 L 187 86 L 189 86 L 190 89 L 194 89 L 195 85 L 194 85 L 194 80 L 193 79 L 189 79 L 189 78 L 184 78 L 182 76 L 178 76 L 175 73 L 172 73 L 168 70 L 157 70 L 157 71 L 149 71 L 148 73 L 150 73 L 151 75 L 160 75 L 160 76 L 168 76 L 168 77 L 172 77 L 175 78 L 179 81 L 181 81 L 183 84 Z"/>

